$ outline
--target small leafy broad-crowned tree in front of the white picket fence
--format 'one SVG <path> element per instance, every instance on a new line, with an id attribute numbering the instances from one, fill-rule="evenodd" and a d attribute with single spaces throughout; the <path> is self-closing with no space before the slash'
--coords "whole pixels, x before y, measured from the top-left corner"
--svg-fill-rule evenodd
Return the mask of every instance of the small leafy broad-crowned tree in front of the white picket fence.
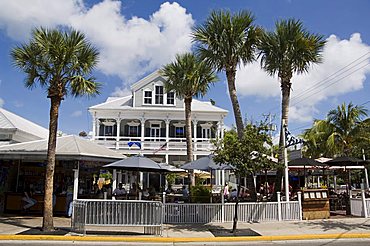
<path id="1" fill-rule="evenodd" d="M 266 144 L 271 143 L 266 125 L 248 124 L 244 128 L 243 137 L 239 139 L 235 130 L 227 131 L 223 139 L 216 142 L 214 161 L 218 164 L 224 163 L 233 166 L 238 180 L 237 197 L 235 203 L 235 214 L 233 233 L 236 232 L 238 222 L 238 203 L 241 178 L 254 175 L 266 167 L 269 162 L 270 149 Z M 256 199 L 256 188 L 254 187 L 252 197 Z"/>

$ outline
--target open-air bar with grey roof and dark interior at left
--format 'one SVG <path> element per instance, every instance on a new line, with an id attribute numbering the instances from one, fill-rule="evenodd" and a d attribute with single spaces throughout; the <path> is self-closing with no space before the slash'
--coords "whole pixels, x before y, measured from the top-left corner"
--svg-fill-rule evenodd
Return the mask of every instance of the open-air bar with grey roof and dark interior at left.
<path id="1" fill-rule="evenodd" d="M 0 147 L 0 211 L 21 212 L 24 191 L 36 203 L 28 212 L 41 213 L 46 169 L 46 140 Z M 74 190 L 78 198 L 96 197 L 101 167 L 124 158 L 112 150 L 88 140 L 66 136 L 58 138 L 54 174 L 54 212 L 66 214 Z M 75 184 L 76 175 L 78 184 Z"/>

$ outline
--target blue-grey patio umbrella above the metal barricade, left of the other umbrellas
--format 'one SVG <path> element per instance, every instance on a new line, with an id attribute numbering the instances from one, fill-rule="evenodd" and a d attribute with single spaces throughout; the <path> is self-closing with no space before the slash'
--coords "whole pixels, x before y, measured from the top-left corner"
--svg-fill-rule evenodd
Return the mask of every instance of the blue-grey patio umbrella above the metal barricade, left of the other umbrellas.
<path id="1" fill-rule="evenodd" d="M 144 156 L 132 156 L 103 167 L 142 172 L 168 172 L 159 163 Z"/>

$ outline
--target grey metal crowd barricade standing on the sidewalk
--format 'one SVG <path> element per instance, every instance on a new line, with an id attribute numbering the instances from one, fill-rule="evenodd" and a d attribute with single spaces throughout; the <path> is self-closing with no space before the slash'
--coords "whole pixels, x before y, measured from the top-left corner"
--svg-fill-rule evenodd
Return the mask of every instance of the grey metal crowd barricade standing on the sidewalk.
<path id="1" fill-rule="evenodd" d="M 75 200 L 72 230 L 86 234 L 86 226 L 142 226 L 144 232 L 158 234 L 162 231 L 162 213 L 163 204 L 157 201 Z"/>

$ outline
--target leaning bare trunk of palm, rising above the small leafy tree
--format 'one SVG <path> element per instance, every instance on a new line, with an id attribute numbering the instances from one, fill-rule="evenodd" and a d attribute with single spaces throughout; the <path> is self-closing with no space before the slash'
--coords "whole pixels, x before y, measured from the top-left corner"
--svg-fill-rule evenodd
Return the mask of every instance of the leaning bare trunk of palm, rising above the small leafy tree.
<path id="1" fill-rule="evenodd" d="M 242 139 L 244 132 L 244 124 L 242 119 L 242 113 L 240 111 L 238 96 L 236 94 L 235 75 L 236 75 L 235 69 L 226 70 L 227 85 L 229 88 L 230 100 L 233 105 L 236 130 L 238 132 L 238 138 Z"/>

